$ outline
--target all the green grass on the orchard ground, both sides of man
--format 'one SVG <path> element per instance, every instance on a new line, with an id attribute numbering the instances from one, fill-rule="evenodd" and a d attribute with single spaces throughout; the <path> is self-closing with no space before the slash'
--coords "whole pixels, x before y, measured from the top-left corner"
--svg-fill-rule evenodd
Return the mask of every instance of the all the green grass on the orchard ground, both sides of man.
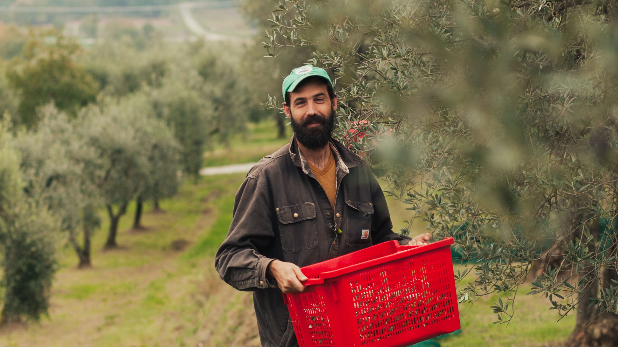
<path id="1" fill-rule="evenodd" d="M 252 126 L 244 142 L 216 148 L 206 153 L 205 161 L 223 165 L 271 153 L 287 142 L 276 139 L 273 128 L 273 123 Z M 259 346 L 251 294 L 235 291 L 214 270 L 214 253 L 226 236 L 234 194 L 244 176 L 185 183 L 175 198 L 163 201 L 166 213 L 146 212 L 146 230 L 130 229 L 131 206 L 121 219 L 119 249 L 103 251 L 106 224 L 96 233 L 90 269 L 77 269 L 72 250 L 63 249 L 49 318 L 28 327 L 3 328 L 0 346 Z M 398 230 L 409 211 L 392 199 L 389 206 Z M 413 232 L 423 227 L 415 222 Z M 178 240 L 188 246 L 174 248 Z M 574 317 L 556 322 L 546 299 L 525 296 L 528 288 L 519 290 L 509 327 L 493 324 L 496 316 L 489 306 L 498 296 L 491 295 L 472 306 L 460 304 L 462 333 L 440 343 L 533 347 L 564 340 Z"/>

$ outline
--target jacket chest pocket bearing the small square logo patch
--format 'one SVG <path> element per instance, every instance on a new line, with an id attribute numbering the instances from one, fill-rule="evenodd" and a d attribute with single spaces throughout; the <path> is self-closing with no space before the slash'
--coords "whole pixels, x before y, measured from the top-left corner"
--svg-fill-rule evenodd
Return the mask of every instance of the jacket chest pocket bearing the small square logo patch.
<path id="1" fill-rule="evenodd" d="M 348 246 L 371 246 L 371 219 L 373 219 L 373 204 L 367 201 L 345 201 L 346 236 Z"/>

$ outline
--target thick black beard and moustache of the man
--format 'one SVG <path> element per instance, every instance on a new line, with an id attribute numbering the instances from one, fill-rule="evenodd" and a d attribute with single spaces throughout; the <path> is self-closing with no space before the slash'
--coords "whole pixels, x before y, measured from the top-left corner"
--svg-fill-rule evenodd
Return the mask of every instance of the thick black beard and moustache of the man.
<path id="1" fill-rule="evenodd" d="M 291 112 L 291 111 L 290 111 Z M 310 114 L 297 122 L 294 117 L 292 120 L 292 131 L 296 135 L 296 140 L 307 149 L 321 149 L 331 140 L 332 130 L 335 128 L 335 112 L 331 109 L 328 117 L 322 117 L 317 114 Z M 320 123 L 317 127 L 309 128 L 307 125 L 311 123 Z"/>

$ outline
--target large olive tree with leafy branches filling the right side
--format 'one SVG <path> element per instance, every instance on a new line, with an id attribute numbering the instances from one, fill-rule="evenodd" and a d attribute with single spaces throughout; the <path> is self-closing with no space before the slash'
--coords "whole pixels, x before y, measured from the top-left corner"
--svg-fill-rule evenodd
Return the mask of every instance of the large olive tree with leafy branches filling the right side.
<path id="1" fill-rule="evenodd" d="M 455 272 L 460 301 L 499 293 L 491 309 L 507 323 L 532 271 L 529 294 L 577 317 L 567 345 L 612 346 L 616 14 L 614 0 L 291 0 L 265 43 L 270 57 L 311 46 L 307 62 L 332 72 L 337 136 L 410 220 L 473 261 Z"/>

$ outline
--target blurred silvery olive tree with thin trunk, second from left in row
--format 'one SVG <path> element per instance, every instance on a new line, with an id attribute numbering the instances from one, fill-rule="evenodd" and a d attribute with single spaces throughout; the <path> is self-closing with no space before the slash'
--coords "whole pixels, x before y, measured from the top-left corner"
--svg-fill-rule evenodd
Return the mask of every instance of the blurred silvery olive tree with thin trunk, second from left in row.
<path id="1" fill-rule="evenodd" d="M 59 217 L 77 254 L 78 267 L 88 267 L 91 236 L 99 226 L 96 210 L 101 206 L 92 161 L 96 152 L 56 107 L 50 104 L 40 114 L 36 130 L 16 140 L 27 191 Z"/>

